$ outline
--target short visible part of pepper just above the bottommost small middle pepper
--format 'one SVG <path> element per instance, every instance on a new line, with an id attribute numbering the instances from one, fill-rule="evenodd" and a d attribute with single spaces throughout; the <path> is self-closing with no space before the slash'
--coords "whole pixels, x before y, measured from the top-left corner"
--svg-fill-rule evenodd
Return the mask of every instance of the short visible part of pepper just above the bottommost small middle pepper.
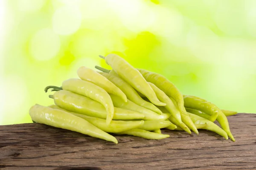
<path id="1" fill-rule="evenodd" d="M 156 129 L 162 129 L 170 125 L 171 125 L 171 122 L 165 121 L 165 120 L 145 120 L 144 124 L 138 128 L 152 131 Z"/>

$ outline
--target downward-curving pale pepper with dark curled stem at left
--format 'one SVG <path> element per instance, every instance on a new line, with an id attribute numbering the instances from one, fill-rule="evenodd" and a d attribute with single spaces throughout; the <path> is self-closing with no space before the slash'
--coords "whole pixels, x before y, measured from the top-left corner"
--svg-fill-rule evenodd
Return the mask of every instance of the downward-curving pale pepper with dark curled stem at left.
<path id="1" fill-rule="evenodd" d="M 47 86 L 44 90 L 47 92 L 49 88 L 58 88 L 56 86 Z M 114 106 L 108 92 L 98 85 L 92 82 L 84 81 L 81 79 L 67 79 L 62 82 L 62 88 L 66 91 L 72 91 L 73 93 L 80 94 L 82 96 L 89 97 L 101 103 L 108 112 L 106 123 L 109 125 L 114 115 Z"/>

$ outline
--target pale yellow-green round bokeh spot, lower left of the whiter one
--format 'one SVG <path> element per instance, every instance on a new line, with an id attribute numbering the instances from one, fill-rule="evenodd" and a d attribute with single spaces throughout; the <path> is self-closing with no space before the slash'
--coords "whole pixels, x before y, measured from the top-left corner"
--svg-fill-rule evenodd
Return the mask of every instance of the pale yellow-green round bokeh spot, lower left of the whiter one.
<path id="1" fill-rule="evenodd" d="M 37 31 L 29 43 L 29 51 L 37 60 L 49 60 L 58 54 L 60 39 L 51 29 L 44 28 Z"/>

